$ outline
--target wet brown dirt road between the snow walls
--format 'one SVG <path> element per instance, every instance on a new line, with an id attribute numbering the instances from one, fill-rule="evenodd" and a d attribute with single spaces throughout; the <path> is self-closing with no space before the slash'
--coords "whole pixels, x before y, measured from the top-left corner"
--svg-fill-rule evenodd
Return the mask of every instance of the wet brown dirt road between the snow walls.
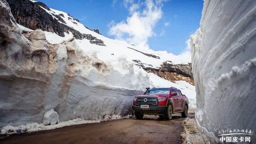
<path id="1" fill-rule="evenodd" d="M 194 113 L 188 117 L 194 118 Z M 181 114 L 105 121 L 27 134 L 0 136 L 1 144 L 181 144 Z"/>

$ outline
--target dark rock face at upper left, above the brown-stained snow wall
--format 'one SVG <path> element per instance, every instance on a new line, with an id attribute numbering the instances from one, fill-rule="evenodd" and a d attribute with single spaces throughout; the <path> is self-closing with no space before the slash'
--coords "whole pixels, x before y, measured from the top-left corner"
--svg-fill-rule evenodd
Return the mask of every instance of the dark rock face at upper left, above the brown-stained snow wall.
<path id="1" fill-rule="evenodd" d="M 94 40 L 96 37 L 91 36 L 90 34 L 80 33 L 79 31 L 65 25 L 66 22 L 61 17 L 64 17 L 63 14 L 53 16 L 47 13 L 44 9 L 51 11 L 44 3 L 42 2 L 31 2 L 30 0 L 6 0 L 11 8 L 11 12 L 16 20 L 16 22 L 24 27 L 27 27 L 32 30 L 41 29 L 43 31 L 55 32 L 61 37 L 65 37 L 64 32 L 72 32 L 76 39 L 88 39 Z M 42 9 L 42 8 L 44 9 Z M 70 16 L 70 15 L 69 15 Z M 72 16 L 68 17 L 69 19 Z M 79 22 L 78 19 L 74 19 Z M 64 24 L 61 24 L 61 21 Z M 73 22 L 77 25 L 77 23 Z M 87 27 L 86 27 L 87 28 Z M 88 28 L 89 29 L 89 28 Z M 104 44 L 99 44 L 104 45 Z"/>

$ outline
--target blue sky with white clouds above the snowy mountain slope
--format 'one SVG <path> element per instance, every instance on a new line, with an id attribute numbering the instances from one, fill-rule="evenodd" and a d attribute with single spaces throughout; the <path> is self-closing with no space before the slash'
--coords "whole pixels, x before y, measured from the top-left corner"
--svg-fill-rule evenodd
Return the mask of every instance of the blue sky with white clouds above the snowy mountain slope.
<path id="1" fill-rule="evenodd" d="M 154 51 L 179 55 L 200 27 L 202 0 L 37 0 L 90 29 Z"/>

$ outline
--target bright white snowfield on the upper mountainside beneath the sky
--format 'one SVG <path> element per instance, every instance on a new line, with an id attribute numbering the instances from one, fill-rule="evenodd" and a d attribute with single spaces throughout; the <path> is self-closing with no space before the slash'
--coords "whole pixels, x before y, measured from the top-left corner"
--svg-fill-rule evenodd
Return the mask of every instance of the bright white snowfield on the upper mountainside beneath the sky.
<path id="1" fill-rule="evenodd" d="M 44 8 L 42 8 L 42 9 L 44 9 Z M 62 18 L 63 18 L 63 20 L 66 21 L 66 25 L 68 25 L 69 27 L 73 27 L 75 30 L 80 31 L 81 33 L 91 34 L 94 37 L 96 37 L 97 39 L 103 40 L 106 47 L 92 45 L 88 40 L 76 40 L 77 45 L 79 45 L 84 51 L 86 51 L 86 52 L 96 51 L 97 57 L 103 61 L 109 61 L 110 59 L 116 59 L 120 55 L 126 55 L 126 58 L 128 61 L 139 59 L 143 63 L 151 64 L 153 67 L 160 67 L 160 64 L 162 64 L 162 62 L 167 61 L 167 60 L 172 61 L 172 64 L 187 64 L 187 63 L 191 62 L 190 57 L 182 57 L 181 55 L 176 56 L 171 53 L 167 53 L 166 51 L 155 52 L 151 49 L 144 49 L 144 48 L 140 48 L 137 46 L 133 46 L 131 44 L 128 44 L 125 41 L 119 41 L 119 40 L 113 40 L 113 39 L 106 38 L 103 35 L 97 34 L 93 31 L 87 29 L 86 27 L 84 27 L 83 24 L 78 23 L 77 21 L 73 20 L 73 18 L 70 19 L 71 17 L 65 12 L 57 11 L 54 9 L 51 9 L 51 11 L 48 11 L 46 9 L 44 9 L 44 10 L 50 14 L 55 14 L 55 15 L 63 14 L 64 17 L 62 17 Z M 59 22 L 61 23 L 61 21 L 59 21 Z M 75 22 L 76 24 L 73 22 Z M 50 43 L 53 43 L 53 44 L 60 43 L 62 40 L 62 39 L 56 39 L 56 37 L 58 38 L 59 36 L 56 35 L 55 33 L 52 33 L 52 34 L 49 32 L 45 32 L 45 33 L 46 33 L 46 39 Z M 70 35 L 68 35 L 68 34 L 65 34 L 65 35 L 66 35 L 66 37 L 70 37 Z M 127 47 L 137 49 L 137 50 L 147 53 L 147 54 L 159 56 L 160 59 L 148 57 L 146 55 L 143 55 L 142 53 L 134 52 L 133 49 L 130 49 Z M 114 55 L 111 55 L 111 54 L 114 54 Z"/>

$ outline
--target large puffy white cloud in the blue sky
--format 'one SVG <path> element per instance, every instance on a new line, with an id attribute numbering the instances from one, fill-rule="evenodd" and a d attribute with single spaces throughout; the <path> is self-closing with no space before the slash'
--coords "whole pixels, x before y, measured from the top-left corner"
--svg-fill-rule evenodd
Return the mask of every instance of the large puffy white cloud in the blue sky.
<path id="1" fill-rule="evenodd" d="M 162 18 L 161 7 L 165 1 L 168 0 L 145 0 L 143 3 L 124 0 L 124 6 L 131 16 L 118 23 L 112 21 L 109 24 L 109 34 L 114 35 L 115 39 L 148 48 L 147 39 L 156 35 L 153 28 Z"/>

